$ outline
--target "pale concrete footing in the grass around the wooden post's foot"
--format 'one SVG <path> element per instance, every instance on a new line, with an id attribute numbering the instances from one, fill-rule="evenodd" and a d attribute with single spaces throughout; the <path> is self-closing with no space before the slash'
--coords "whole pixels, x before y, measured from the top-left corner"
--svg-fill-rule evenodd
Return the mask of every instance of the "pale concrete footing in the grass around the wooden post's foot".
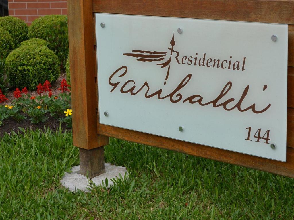
<path id="1" fill-rule="evenodd" d="M 115 166 L 111 165 L 111 163 L 104 163 L 105 166 L 105 173 L 93 177 L 92 181 L 95 185 L 101 185 L 102 186 L 102 180 L 105 184 L 105 179 L 108 179 L 108 186 L 109 188 L 111 185 L 113 185 L 112 178 L 119 177 L 119 174 L 121 174 L 122 177 L 124 177 L 125 173 L 128 172 L 126 170 L 126 167 L 121 166 Z M 90 179 L 80 174 L 80 166 L 75 166 L 71 168 L 72 173 L 65 173 L 64 176 L 61 179 L 61 184 L 68 188 L 72 192 L 76 192 L 77 189 L 80 189 L 84 192 L 90 192 L 87 188 L 92 188 Z"/>

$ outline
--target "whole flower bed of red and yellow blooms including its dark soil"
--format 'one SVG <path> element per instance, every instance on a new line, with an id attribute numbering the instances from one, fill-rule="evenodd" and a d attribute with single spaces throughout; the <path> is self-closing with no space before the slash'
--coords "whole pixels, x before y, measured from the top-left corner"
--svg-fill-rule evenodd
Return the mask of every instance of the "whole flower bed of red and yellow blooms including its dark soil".
<path id="1" fill-rule="evenodd" d="M 0 103 L 11 101 L 11 104 L 0 105 L 0 136 L 5 132 L 21 128 L 71 129 L 71 96 L 66 80 L 61 81 L 59 93 L 54 95 L 49 81 L 37 86 L 36 96 L 31 96 L 26 87 L 16 88 L 14 99 L 8 98 L 0 90 Z"/>

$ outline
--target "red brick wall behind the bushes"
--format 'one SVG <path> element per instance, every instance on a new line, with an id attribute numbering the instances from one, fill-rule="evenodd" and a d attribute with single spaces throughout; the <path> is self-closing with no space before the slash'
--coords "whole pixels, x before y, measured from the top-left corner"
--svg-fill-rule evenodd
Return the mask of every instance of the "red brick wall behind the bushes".
<path id="1" fill-rule="evenodd" d="M 8 0 L 9 15 L 28 25 L 36 18 L 49 14 L 67 14 L 66 0 Z"/>

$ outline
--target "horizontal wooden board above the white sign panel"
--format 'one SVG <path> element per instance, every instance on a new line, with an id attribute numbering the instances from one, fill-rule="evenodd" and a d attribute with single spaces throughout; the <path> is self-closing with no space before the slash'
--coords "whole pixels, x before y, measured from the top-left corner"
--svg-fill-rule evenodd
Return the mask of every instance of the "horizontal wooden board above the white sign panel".
<path id="1" fill-rule="evenodd" d="M 93 12 L 294 24 L 289 0 L 93 0 Z"/>

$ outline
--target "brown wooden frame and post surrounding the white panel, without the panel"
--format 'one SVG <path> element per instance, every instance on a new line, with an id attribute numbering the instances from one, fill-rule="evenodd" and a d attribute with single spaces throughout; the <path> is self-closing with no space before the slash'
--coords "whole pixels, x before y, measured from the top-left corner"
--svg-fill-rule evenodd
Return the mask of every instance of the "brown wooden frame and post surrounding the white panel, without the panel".
<path id="1" fill-rule="evenodd" d="M 68 0 L 74 145 L 80 148 L 81 174 L 104 172 L 108 138 L 151 145 L 253 169 L 294 177 L 294 1 L 290 0 Z M 288 24 L 287 162 L 188 143 L 103 125 L 98 120 L 94 13 L 202 18 Z"/>

